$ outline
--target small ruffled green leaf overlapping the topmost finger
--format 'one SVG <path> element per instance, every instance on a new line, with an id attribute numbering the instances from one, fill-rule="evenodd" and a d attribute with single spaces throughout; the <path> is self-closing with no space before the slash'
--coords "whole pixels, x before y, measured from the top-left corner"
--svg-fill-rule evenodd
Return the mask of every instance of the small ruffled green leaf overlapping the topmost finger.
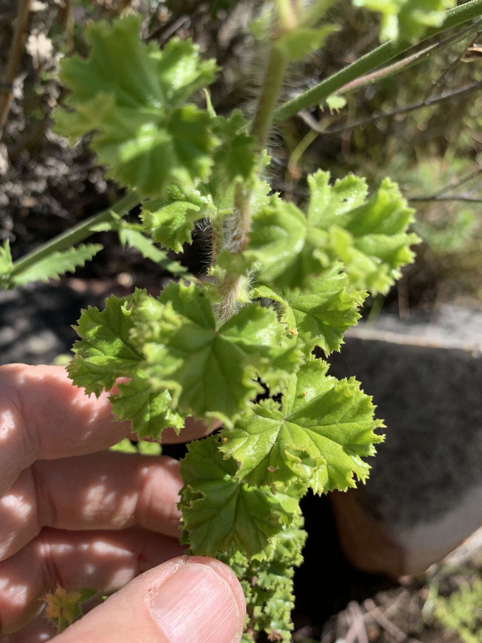
<path id="1" fill-rule="evenodd" d="M 121 420 L 132 420 L 132 431 L 139 439 L 160 439 L 168 426 L 177 435 L 184 427 L 184 416 L 171 409 L 172 398 L 166 390 L 155 390 L 143 370 L 138 370 L 127 383 L 118 385 L 119 394 L 112 395 L 112 412 Z"/>

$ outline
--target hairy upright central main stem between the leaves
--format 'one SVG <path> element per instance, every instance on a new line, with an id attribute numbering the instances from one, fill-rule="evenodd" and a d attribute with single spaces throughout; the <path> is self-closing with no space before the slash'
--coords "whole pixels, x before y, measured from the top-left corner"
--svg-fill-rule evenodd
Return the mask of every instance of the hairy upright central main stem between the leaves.
<path id="1" fill-rule="evenodd" d="M 269 52 L 269 58 L 262 80 L 260 95 L 256 104 L 253 122 L 251 124 L 251 136 L 256 141 L 256 149 L 261 154 L 265 140 L 272 122 L 272 114 L 281 86 L 287 60 L 285 55 L 278 48 L 274 39 Z M 251 185 L 238 183 L 235 190 L 235 208 L 233 217 L 229 222 L 229 228 L 225 238 L 225 248 L 232 254 L 240 253 L 247 242 L 247 234 L 251 224 Z M 221 323 L 227 321 L 236 310 L 236 302 L 241 278 L 235 273 L 226 271 L 226 275 L 219 284 L 220 306 L 219 320 Z"/>

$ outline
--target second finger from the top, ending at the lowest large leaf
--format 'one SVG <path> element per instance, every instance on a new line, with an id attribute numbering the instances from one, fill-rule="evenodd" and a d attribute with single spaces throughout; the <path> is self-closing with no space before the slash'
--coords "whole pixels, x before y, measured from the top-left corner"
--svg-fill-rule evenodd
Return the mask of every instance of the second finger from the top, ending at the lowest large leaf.
<path id="1" fill-rule="evenodd" d="M 30 542 L 42 527 L 145 527 L 179 538 L 177 509 L 183 480 L 166 456 L 93 453 L 39 460 L 0 498 L 0 561 Z"/>

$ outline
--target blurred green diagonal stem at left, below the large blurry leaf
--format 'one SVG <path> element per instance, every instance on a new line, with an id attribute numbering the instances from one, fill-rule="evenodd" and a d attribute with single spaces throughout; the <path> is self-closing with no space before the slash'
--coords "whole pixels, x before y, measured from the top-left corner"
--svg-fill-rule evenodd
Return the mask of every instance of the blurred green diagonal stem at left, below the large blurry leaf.
<path id="1" fill-rule="evenodd" d="M 103 212 L 95 214 L 93 217 L 89 217 L 89 219 L 85 219 L 85 221 L 80 222 L 78 225 L 70 228 L 66 232 L 62 232 L 62 234 L 57 235 L 57 237 L 54 237 L 48 242 L 42 244 L 39 248 L 15 261 L 13 263 L 11 275 L 18 275 L 18 273 L 21 273 L 26 268 L 33 266 L 37 261 L 40 261 L 40 259 L 43 259 L 44 257 L 48 257 L 53 252 L 71 248 L 71 246 L 74 246 L 79 241 L 87 239 L 87 237 L 90 237 L 94 233 L 92 230 L 93 226 L 112 219 L 112 212 L 123 217 L 132 210 L 132 208 L 135 208 L 139 201 L 139 195 L 136 192 L 129 192 L 129 194 L 120 199 L 120 201 L 114 203 L 111 208 L 107 208 L 107 210 L 103 210 Z"/>

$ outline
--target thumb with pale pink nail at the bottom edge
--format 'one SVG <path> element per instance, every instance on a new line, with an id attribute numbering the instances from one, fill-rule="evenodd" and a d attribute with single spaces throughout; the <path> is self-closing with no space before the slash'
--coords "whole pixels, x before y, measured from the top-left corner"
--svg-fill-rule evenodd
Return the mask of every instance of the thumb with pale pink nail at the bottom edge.
<path id="1" fill-rule="evenodd" d="M 56 637 L 58 643 L 238 643 L 245 602 L 228 566 L 180 556 L 141 574 Z"/>

